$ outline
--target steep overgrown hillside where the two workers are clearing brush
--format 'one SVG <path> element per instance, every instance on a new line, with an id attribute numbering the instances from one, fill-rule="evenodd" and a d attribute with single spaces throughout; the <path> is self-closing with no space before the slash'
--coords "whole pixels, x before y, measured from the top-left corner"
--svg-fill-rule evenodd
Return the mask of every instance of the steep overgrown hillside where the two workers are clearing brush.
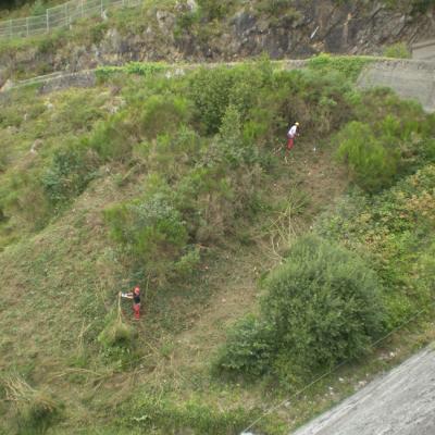
<path id="1" fill-rule="evenodd" d="M 291 396 L 254 425 L 285 434 L 433 338 L 435 119 L 388 90 L 357 90 L 364 62 L 321 57 L 289 72 L 263 60 L 185 75 L 133 64 L 101 69 L 94 89 L 9 94 L 0 433 L 236 434 Z M 274 279 L 294 288 L 304 268 L 289 277 L 286 268 L 312 246 L 326 252 L 312 258 L 319 276 L 277 295 Z M 347 279 L 341 259 L 376 288 Z M 139 322 L 117 297 L 135 285 Z M 327 293 L 347 300 L 353 285 L 358 321 L 335 315 L 340 301 Z M 328 303 L 302 315 L 300 298 L 318 300 L 318 289 Z M 362 303 L 374 290 L 378 303 Z M 271 314 L 284 307 L 300 330 Z"/>

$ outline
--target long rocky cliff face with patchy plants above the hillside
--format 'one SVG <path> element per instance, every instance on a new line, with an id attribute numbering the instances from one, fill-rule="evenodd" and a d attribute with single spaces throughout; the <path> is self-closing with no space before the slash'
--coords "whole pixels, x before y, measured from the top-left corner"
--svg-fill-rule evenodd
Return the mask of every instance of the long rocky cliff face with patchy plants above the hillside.
<path id="1" fill-rule="evenodd" d="M 192 0 L 174 10 L 149 11 L 136 29 L 109 28 L 98 42 L 3 52 L 0 86 L 14 72 L 27 75 L 52 71 L 121 64 L 128 61 L 195 62 L 231 61 L 269 53 L 272 59 L 307 58 L 332 53 L 382 52 L 384 46 L 430 37 L 435 30 L 435 11 L 413 14 L 411 8 L 390 10 L 383 2 L 356 0 L 296 0 L 291 10 L 271 15 L 246 7 L 222 20 L 182 25 L 194 13 Z M 127 29 L 125 29 L 127 27 Z"/>

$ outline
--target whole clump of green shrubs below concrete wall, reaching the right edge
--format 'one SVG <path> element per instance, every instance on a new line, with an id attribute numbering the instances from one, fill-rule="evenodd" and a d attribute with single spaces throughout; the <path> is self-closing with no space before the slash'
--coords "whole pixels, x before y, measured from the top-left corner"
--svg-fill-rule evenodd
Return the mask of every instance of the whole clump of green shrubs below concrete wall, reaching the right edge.
<path id="1" fill-rule="evenodd" d="M 364 96 L 361 104 L 368 104 L 366 111 L 359 113 L 358 107 L 356 114 L 364 122 L 345 125 L 334 139 L 338 159 L 359 187 L 374 192 L 434 161 L 433 120 L 419 105 L 382 90 Z"/>

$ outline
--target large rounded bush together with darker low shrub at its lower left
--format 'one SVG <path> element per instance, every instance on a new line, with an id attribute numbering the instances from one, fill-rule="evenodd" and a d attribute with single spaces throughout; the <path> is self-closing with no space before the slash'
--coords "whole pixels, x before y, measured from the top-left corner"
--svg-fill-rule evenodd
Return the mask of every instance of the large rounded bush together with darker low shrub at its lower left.
<path id="1" fill-rule="evenodd" d="M 298 382 L 363 355 L 383 331 L 376 276 L 346 249 L 313 236 L 299 239 L 272 271 L 261 316 L 228 333 L 217 363 L 245 374 L 275 373 Z"/>

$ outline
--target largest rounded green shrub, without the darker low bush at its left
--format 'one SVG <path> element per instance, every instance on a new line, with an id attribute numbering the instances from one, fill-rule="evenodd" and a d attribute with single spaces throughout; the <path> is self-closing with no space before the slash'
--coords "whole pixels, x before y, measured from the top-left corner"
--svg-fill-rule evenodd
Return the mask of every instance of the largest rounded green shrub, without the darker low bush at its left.
<path id="1" fill-rule="evenodd" d="M 272 271 L 261 307 L 291 372 L 364 353 L 383 330 L 381 288 L 350 251 L 314 236 L 299 239 Z"/>

